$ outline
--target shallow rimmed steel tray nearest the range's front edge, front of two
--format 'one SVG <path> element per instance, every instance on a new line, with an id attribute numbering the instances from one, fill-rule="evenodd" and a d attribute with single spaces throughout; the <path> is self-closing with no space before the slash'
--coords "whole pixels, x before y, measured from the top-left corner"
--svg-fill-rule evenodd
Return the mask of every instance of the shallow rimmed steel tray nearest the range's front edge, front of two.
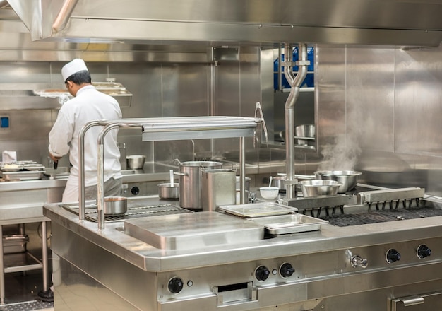
<path id="1" fill-rule="evenodd" d="M 265 232 L 273 235 L 321 230 L 321 225 L 328 223 L 328 221 L 323 221 L 322 219 L 306 216 L 300 213 L 251 218 L 251 221 L 263 225 Z"/>

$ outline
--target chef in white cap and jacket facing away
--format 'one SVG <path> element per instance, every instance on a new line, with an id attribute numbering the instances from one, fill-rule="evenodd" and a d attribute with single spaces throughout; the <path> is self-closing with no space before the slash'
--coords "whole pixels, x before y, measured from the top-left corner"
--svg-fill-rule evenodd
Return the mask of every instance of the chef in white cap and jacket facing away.
<path id="1" fill-rule="evenodd" d="M 73 95 L 61 106 L 49 132 L 49 156 L 58 161 L 69 153 L 71 174 L 66 182 L 63 202 L 78 202 L 79 151 L 78 134 L 83 125 L 100 119 L 121 119 L 117 100 L 99 92 L 83 59 L 73 59 L 61 69 L 64 83 Z M 102 127 L 91 127 L 85 134 L 85 199 L 97 199 L 97 138 Z M 117 147 L 118 129 L 112 129 L 104 139 L 104 195 L 121 192 L 120 153 Z"/>

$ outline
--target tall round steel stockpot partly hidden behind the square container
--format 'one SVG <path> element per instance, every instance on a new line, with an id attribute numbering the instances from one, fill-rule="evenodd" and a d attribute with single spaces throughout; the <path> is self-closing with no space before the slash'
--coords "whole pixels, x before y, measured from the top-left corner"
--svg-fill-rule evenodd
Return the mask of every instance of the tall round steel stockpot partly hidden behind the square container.
<path id="1" fill-rule="evenodd" d="M 184 209 L 202 209 L 201 200 L 203 170 L 222 168 L 222 163 L 213 161 L 179 162 L 179 206 Z"/>

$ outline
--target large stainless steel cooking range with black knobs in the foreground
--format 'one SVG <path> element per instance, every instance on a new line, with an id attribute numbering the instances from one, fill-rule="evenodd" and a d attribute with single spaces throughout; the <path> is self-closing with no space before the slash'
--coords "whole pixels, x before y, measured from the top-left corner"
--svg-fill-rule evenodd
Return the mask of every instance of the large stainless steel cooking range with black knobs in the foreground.
<path id="1" fill-rule="evenodd" d="M 61 257 L 55 306 L 93 288 L 120 310 L 438 310 L 442 210 L 430 199 L 358 184 L 212 212 L 170 201 L 169 213 L 128 213 L 104 230 L 78 221 L 76 206 L 47 204 Z M 159 202 L 129 198 L 129 211 Z"/>

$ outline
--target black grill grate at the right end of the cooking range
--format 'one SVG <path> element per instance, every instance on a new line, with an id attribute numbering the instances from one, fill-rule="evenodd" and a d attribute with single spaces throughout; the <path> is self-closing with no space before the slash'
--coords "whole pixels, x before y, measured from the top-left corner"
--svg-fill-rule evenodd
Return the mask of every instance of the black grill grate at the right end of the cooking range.
<path id="1" fill-rule="evenodd" d="M 343 214 L 320 217 L 331 225 L 347 227 L 349 225 L 365 225 L 369 223 L 384 223 L 387 221 L 402 221 L 405 219 L 426 218 L 442 216 L 442 209 L 416 208 L 416 209 L 393 209 L 385 211 L 372 211 L 369 213 Z"/>

